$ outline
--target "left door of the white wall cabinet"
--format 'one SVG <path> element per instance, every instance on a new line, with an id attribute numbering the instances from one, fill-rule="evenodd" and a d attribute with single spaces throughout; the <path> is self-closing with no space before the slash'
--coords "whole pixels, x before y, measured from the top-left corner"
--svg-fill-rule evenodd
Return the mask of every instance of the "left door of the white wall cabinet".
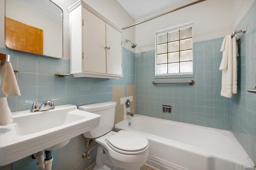
<path id="1" fill-rule="evenodd" d="M 106 23 L 83 8 L 83 71 L 106 74 Z"/>

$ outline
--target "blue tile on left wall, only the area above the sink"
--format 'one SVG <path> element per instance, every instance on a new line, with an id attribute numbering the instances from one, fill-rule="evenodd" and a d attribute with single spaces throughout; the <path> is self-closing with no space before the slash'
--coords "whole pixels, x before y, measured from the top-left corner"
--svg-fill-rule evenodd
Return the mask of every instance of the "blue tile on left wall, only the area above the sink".
<path id="1" fill-rule="evenodd" d="M 0 53 L 11 55 L 21 96 L 8 98 L 11 111 L 30 109 L 24 100 L 42 103 L 60 98 L 55 105 L 84 105 L 112 100 L 113 85 L 135 85 L 135 53 L 122 48 L 123 77 L 120 79 L 74 78 L 72 75 L 57 78 L 56 72 L 69 73 L 70 61 L 32 55 L 0 48 Z"/>

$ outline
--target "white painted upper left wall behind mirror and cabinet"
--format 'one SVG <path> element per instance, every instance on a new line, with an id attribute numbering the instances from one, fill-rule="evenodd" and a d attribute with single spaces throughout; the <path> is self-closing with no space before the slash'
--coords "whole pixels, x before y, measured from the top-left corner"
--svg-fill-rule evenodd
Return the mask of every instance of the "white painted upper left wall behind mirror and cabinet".
<path id="1" fill-rule="evenodd" d="M 69 59 L 69 17 L 68 8 L 77 0 L 53 0 L 63 10 L 64 16 L 64 57 Z M 115 23 L 118 27 L 125 27 L 134 23 L 134 19 L 124 10 L 124 8 L 116 0 L 85 0 L 87 4 L 92 6 L 100 14 Z M 135 52 L 130 44 L 125 43 L 125 39 L 135 41 L 135 27 L 126 29 L 122 33 L 123 47 Z M 4 0 L 0 0 L 0 47 L 4 47 Z"/>

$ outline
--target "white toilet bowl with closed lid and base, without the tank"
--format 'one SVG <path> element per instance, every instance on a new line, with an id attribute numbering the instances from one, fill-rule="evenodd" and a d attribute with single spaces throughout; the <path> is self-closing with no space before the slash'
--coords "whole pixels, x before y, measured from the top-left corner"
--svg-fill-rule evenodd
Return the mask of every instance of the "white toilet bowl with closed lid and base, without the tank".
<path id="1" fill-rule="evenodd" d="M 122 143 L 123 140 L 120 140 L 120 143 L 119 143 L 118 139 L 120 139 L 119 138 L 120 134 L 126 135 L 125 139 L 130 139 L 129 141 L 132 143 L 130 143 L 129 141 Z M 106 135 L 96 138 L 95 141 L 102 146 L 102 147 L 98 147 L 98 150 L 97 150 L 97 158 L 98 156 L 100 157 L 100 160 L 98 161 L 107 163 L 109 165 L 108 167 L 111 169 L 117 166 L 119 169 L 138 170 L 140 167 L 142 167 L 145 164 L 148 158 L 148 140 L 146 138 L 143 140 L 141 140 L 141 138 L 136 140 L 136 138 L 134 137 L 137 137 L 137 136 L 138 135 L 136 133 L 132 133 L 130 131 L 119 131 L 119 132 L 110 131 Z M 110 141 L 113 142 L 112 139 L 114 139 L 113 144 L 110 143 Z M 142 142 L 143 145 L 134 145 L 136 142 L 138 144 Z M 104 158 L 104 152 L 105 154 L 108 155 L 109 159 Z M 96 167 L 96 170 L 103 170 L 100 168 L 100 164 L 97 162 L 97 158 L 96 158 L 96 166 L 98 167 Z"/>

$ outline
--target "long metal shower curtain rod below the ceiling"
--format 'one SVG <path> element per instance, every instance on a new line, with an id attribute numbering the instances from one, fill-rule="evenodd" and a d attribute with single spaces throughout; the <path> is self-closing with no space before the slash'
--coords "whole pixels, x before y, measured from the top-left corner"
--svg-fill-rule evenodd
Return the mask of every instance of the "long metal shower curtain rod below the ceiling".
<path id="1" fill-rule="evenodd" d="M 206 0 L 197 0 L 197 1 L 195 1 L 195 2 L 191 2 L 191 3 L 186 4 L 186 5 L 184 5 L 184 6 L 180 6 L 180 7 L 178 7 L 178 8 L 173 9 L 173 10 L 170 10 L 170 11 L 164 12 L 164 13 L 162 13 L 162 14 L 159 14 L 159 15 L 153 16 L 153 17 L 151 17 L 151 18 L 148 18 L 148 19 L 146 19 L 146 20 L 142 20 L 142 21 L 136 22 L 136 23 L 134 23 L 134 24 L 132 24 L 132 25 L 128 25 L 128 26 L 126 26 L 126 27 L 123 27 L 122 30 L 127 29 L 127 28 L 130 28 L 130 27 L 133 27 L 133 26 L 135 26 L 135 25 L 139 25 L 139 24 L 144 23 L 144 22 L 146 22 L 146 21 L 153 20 L 153 19 L 158 18 L 158 17 L 160 17 L 160 16 L 164 16 L 164 15 L 166 15 L 166 14 L 170 14 L 170 13 L 172 13 L 172 12 L 174 12 L 174 11 L 181 10 L 181 9 L 183 9 L 183 8 L 186 8 L 186 7 L 188 7 L 188 6 L 192 6 L 192 5 L 194 5 L 194 4 L 197 4 L 197 3 L 200 3 L 200 2 L 203 2 L 203 1 L 206 1 Z"/>

